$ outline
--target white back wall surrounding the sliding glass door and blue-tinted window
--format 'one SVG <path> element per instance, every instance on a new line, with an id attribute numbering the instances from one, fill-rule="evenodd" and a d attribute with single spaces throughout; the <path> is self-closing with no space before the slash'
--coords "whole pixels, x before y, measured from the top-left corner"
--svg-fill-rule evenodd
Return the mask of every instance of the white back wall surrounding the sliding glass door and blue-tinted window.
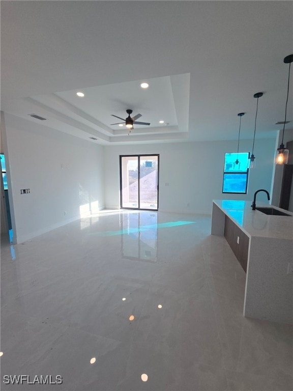
<path id="1" fill-rule="evenodd" d="M 250 152 L 252 140 L 240 141 L 240 152 Z M 183 142 L 104 147 L 106 208 L 120 207 L 120 155 L 159 154 L 159 211 L 211 214 L 213 199 L 252 200 L 255 190 L 270 191 L 275 138 L 256 139 L 256 169 L 249 172 L 247 194 L 223 194 L 226 152 L 237 151 L 237 141 Z M 259 193 L 259 201 L 266 201 Z"/>

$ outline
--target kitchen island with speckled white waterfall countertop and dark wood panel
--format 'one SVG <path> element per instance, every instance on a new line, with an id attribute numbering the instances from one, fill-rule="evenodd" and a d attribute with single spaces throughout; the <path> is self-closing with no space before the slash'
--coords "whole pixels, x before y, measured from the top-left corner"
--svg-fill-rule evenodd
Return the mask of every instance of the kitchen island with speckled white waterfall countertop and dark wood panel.
<path id="1" fill-rule="evenodd" d="M 246 271 L 244 316 L 292 324 L 293 213 L 274 206 L 289 216 L 267 215 L 251 204 L 214 200 L 211 234 L 225 236 Z"/>

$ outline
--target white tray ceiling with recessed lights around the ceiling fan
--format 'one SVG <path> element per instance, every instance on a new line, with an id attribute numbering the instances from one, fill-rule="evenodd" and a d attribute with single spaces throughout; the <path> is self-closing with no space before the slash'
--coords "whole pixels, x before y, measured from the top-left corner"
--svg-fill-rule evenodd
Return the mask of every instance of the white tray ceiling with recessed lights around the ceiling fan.
<path id="1" fill-rule="evenodd" d="M 283 59 L 293 53 L 292 7 L 279 0 L 2 1 L 1 108 L 103 145 L 220 141 L 238 138 L 240 112 L 241 138 L 253 137 L 253 95 L 263 92 L 256 137 L 275 137 L 285 111 Z M 126 118 L 128 108 L 151 125 L 135 125 L 130 135 L 111 126 L 120 122 L 111 114 Z"/>

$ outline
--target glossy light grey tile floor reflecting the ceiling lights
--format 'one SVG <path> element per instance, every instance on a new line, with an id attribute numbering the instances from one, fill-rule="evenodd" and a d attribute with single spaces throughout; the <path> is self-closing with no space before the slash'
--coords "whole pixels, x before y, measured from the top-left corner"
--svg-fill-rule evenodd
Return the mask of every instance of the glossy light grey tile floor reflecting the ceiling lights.
<path id="1" fill-rule="evenodd" d="M 291 390 L 292 327 L 243 317 L 245 273 L 210 229 L 210 216 L 103 211 L 3 240 L 2 389 Z"/>

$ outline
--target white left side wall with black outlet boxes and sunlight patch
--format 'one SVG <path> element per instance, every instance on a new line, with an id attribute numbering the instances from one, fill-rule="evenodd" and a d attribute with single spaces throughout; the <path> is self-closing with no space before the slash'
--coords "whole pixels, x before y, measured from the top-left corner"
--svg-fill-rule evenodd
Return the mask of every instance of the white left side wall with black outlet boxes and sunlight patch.
<path id="1" fill-rule="evenodd" d="M 14 242 L 104 209 L 103 147 L 5 113 Z M 21 189 L 30 193 L 21 194 Z"/>

